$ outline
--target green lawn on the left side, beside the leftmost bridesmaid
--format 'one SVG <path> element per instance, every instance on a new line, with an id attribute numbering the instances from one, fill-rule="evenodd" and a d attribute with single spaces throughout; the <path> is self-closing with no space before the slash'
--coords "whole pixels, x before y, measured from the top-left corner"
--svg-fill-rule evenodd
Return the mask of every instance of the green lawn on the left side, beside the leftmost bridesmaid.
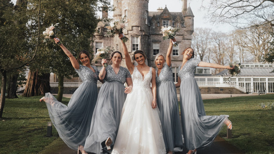
<path id="1" fill-rule="evenodd" d="M 52 137 L 46 137 L 50 121 L 46 104 L 39 102 L 42 96 L 6 99 L 0 119 L 0 154 L 37 154 L 59 138 L 56 129 Z M 68 98 L 63 98 L 67 104 Z"/>

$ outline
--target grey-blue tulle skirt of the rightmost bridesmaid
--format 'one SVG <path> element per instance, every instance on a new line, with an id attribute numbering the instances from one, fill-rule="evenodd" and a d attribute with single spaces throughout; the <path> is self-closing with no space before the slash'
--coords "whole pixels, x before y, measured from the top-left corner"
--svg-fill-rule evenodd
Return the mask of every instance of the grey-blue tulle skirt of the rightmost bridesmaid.
<path id="1" fill-rule="evenodd" d="M 193 150 L 210 145 L 228 115 L 206 115 L 200 89 L 192 77 L 181 81 L 180 93 L 185 148 Z"/>

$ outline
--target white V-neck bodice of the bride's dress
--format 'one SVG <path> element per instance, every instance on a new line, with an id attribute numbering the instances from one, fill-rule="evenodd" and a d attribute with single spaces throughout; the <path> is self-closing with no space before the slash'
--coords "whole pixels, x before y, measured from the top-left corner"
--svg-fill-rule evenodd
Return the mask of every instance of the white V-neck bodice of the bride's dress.
<path id="1" fill-rule="evenodd" d="M 149 71 L 147 74 L 145 74 L 144 79 L 141 73 L 139 72 L 137 67 L 134 67 L 133 73 L 132 73 L 132 80 L 133 80 L 133 87 L 143 87 L 143 88 L 150 88 L 150 82 L 152 79 L 152 70 L 151 67 L 149 68 Z"/>

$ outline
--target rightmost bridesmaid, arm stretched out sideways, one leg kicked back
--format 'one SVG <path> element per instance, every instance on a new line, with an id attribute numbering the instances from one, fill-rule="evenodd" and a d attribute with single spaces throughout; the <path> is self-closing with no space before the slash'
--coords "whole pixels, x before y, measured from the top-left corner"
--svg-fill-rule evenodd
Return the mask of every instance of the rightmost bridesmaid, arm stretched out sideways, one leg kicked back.
<path id="1" fill-rule="evenodd" d="M 182 54 L 183 63 L 179 67 L 176 87 L 180 87 L 181 84 L 180 105 L 184 145 L 189 150 L 187 154 L 196 154 L 197 149 L 204 148 L 213 142 L 223 123 L 228 126 L 228 129 L 232 129 L 228 115 L 206 116 L 200 89 L 194 79 L 196 66 L 227 69 L 233 69 L 234 66 L 222 66 L 194 59 L 194 50 L 190 47 L 186 48 Z"/>

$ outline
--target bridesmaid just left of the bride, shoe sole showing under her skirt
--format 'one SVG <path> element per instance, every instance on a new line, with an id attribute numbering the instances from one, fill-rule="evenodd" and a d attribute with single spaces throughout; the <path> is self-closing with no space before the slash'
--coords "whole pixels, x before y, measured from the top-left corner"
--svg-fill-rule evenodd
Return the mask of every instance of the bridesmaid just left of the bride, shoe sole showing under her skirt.
<path id="1" fill-rule="evenodd" d="M 99 78 L 104 80 L 100 88 L 96 107 L 91 120 L 90 134 L 86 139 L 85 150 L 87 152 L 100 154 L 110 153 L 114 145 L 121 112 L 127 93 L 132 90 L 132 80 L 129 70 L 120 66 L 122 54 L 115 51 L 111 55 L 112 65 L 104 66 L 106 59 L 102 60 L 103 68 L 100 70 Z M 125 88 L 124 83 L 128 87 Z"/>

